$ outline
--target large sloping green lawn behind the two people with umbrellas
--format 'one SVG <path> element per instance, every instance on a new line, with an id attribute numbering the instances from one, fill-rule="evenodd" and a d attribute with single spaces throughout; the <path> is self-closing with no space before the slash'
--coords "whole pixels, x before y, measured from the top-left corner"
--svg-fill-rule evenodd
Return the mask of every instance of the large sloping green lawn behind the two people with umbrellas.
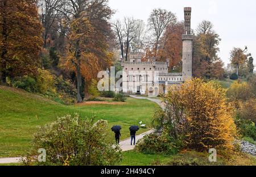
<path id="1" fill-rule="evenodd" d="M 148 100 L 128 98 L 123 105 L 64 106 L 41 96 L 0 86 L 0 157 L 16 157 L 30 148 L 38 125 L 54 121 L 57 116 L 79 113 L 81 117 L 96 115 L 108 120 L 109 136 L 112 125 L 121 125 L 121 139 L 129 137 L 130 125 L 143 121 L 150 129 L 151 117 L 157 105 Z M 114 138 L 113 138 L 114 139 Z"/>

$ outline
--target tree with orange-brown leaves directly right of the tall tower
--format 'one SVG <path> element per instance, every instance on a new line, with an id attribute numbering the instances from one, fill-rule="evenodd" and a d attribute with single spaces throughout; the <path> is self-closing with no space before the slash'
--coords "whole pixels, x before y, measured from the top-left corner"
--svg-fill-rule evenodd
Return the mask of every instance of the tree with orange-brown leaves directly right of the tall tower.
<path id="1" fill-rule="evenodd" d="M 193 41 L 193 75 L 202 78 L 222 78 L 224 63 L 217 52 L 220 50 L 220 36 L 213 30 L 213 24 L 204 20 L 196 29 Z"/>

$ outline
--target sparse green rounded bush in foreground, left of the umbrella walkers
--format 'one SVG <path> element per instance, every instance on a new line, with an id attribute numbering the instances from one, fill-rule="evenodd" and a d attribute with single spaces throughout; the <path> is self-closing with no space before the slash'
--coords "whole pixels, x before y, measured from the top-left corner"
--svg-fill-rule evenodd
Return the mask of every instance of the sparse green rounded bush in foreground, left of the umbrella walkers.
<path id="1" fill-rule="evenodd" d="M 108 123 L 94 117 L 67 115 L 41 127 L 34 136 L 24 165 L 108 166 L 122 160 L 121 149 L 106 140 Z M 46 150 L 46 162 L 38 161 L 39 149 Z"/>

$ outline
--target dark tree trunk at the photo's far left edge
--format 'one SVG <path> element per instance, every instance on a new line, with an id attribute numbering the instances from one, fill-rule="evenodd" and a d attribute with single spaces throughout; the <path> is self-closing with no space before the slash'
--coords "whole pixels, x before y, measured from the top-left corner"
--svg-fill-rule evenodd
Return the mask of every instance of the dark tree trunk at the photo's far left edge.
<path id="1" fill-rule="evenodd" d="M 7 45 L 7 22 L 6 22 L 6 0 L 3 1 L 3 21 L 2 21 L 2 37 L 3 37 L 3 48 L 2 48 L 2 53 L 1 53 L 1 80 L 3 83 L 6 83 L 6 76 L 7 76 L 7 72 L 6 72 L 6 60 L 7 60 L 7 49 L 6 49 L 6 45 Z"/>

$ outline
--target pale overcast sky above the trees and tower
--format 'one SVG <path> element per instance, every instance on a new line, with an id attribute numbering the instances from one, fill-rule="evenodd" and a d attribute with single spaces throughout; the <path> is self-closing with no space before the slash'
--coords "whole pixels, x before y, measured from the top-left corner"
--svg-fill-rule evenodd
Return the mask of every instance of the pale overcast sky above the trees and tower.
<path id="1" fill-rule="evenodd" d="M 172 11 L 179 20 L 184 19 L 183 7 L 192 7 L 192 28 L 204 19 L 214 24 L 220 35 L 220 52 L 225 64 L 229 63 L 233 47 L 249 48 L 256 65 L 256 1 L 255 0 L 109 0 L 110 7 L 117 10 L 113 19 L 133 16 L 147 22 L 152 9 Z"/>

